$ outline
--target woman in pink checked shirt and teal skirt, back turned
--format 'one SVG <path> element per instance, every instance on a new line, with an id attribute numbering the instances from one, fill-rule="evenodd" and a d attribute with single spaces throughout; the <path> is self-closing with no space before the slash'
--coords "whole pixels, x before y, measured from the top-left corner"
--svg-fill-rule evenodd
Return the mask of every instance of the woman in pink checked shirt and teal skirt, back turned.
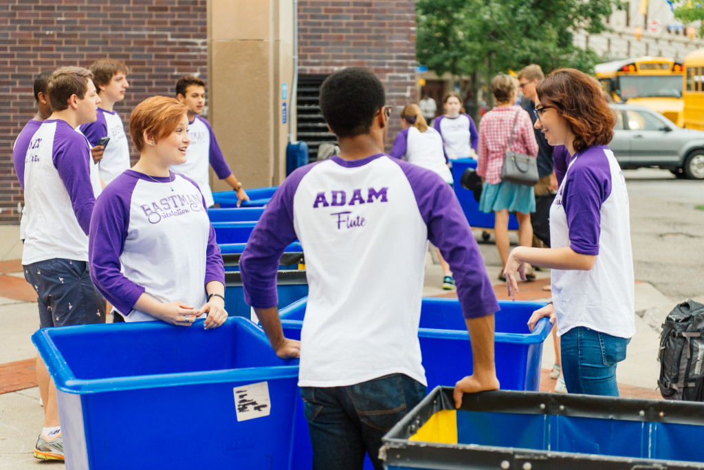
<path id="1" fill-rule="evenodd" d="M 509 142 L 513 151 L 533 157 L 538 155 L 538 143 L 530 116 L 514 104 L 518 92 L 513 77 L 496 75 L 494 80 L 491 80 L 491 92 L 494 93 L 496 107 L 486 113 L 479 123 L 477 175 L 484 181 L 479 210 L 494 212 L 494 237 L 498 254 L 501 256 L 501 273 L 498 278 L 505 280 L 503 271 L 510 247 L 508 215 L 515 213 L 520 245 L 532 246 L 533 227 L 530 223 L 530 213 L 535 211 L 535 197 L 532 186 L 501 180 L 503 159 Z M 527 268 L 525 276 L 528 280 L 535 279 L 532 268 Z"/>

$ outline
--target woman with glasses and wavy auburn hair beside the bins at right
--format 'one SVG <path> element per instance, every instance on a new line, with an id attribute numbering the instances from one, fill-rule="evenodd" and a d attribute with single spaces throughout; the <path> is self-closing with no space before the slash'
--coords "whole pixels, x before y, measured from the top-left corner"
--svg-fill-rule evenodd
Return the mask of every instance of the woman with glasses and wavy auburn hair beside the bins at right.
<path id="1" fill-rule="evenodd" d="M 628 193 L 607 147 L 616 118 L 596 80 L 579 70 L 555 70 L 536 91 L 535 127 L 565 146 L 554 158 L 567 169 L 550 210 L 551 248 L 513 249 L 508 294 L 515 297 L 513 275 L 527 264 L 552 268 L 554 303 L 535 311 L 529 328 L 544 316 L 557 320 L 568 392 L 617 397 L 616 365 L 635 327 Z"/>

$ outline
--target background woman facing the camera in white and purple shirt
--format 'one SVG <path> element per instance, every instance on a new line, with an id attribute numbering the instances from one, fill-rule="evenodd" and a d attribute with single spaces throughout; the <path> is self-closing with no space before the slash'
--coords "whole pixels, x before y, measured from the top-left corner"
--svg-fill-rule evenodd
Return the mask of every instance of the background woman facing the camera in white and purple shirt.
<path id="1" fill-rule="evenodd" d="M 451 160 L 477 158 L 477 126 L 463 113 L 460 95 L 457 92 L 447 94 L 443 104 L 445 114 L 435 118 L 433 127 L 442 137 L 445 155 Z"/>

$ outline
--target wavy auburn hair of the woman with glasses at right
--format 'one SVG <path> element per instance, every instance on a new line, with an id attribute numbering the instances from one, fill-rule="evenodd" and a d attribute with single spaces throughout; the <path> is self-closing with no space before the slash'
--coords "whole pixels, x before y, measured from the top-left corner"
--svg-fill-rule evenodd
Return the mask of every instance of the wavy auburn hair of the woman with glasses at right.
<path id="1" fill-rule="evenodd" d="M 616 116 L 598 82 L 574 68 L 551 72 L 536 87 L 543 106 L 555 106 L 574 135 L 574 151 L 611 142 Z"/>

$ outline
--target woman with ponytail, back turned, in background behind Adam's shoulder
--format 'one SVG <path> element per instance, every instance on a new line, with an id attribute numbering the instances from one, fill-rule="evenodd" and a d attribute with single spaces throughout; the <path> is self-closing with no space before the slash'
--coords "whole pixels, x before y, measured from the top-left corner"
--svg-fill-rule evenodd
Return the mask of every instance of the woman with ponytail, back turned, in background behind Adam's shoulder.
<path id="1" fill-rule="evenodd" d="M 436 130 L 428 127 L 417 104 L 408 104 L 401 110 L 401 128 L 389 155 L 437 173 L 446 183 L 452 185 L 452 172 L 443 151 L 442 137 Z M 453 290 L 455 280 L 450 265 L 443 259 L 439 249 L 437 253 L 443 271 L 442 288 Z"/>

